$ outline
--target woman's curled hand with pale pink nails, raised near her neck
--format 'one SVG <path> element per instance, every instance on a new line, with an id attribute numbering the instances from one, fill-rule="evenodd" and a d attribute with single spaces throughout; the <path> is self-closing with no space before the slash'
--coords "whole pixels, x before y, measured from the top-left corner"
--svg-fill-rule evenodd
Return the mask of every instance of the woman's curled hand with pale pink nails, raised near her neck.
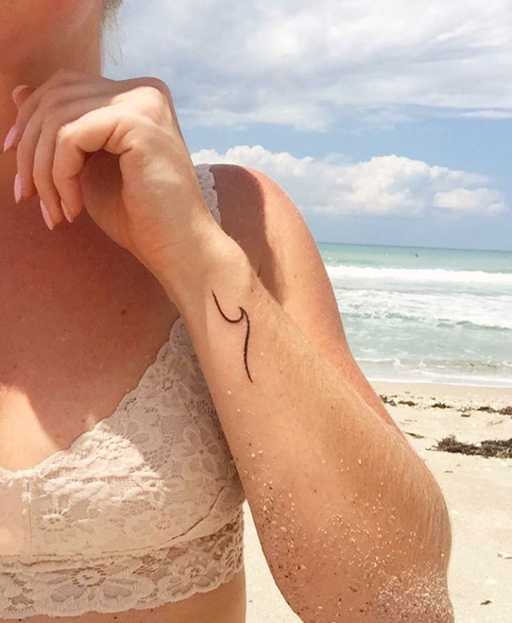
<path id="1" fill-rule="evenodd" d="M 18 113 L 8 149 L 17 150 L 18 194 L 39 195 L 50 229 L 65 212 L 72 222 L 85 207 L 151 270 L 218 227 L 162 80 L 65 69 L 13 98 Z"/>

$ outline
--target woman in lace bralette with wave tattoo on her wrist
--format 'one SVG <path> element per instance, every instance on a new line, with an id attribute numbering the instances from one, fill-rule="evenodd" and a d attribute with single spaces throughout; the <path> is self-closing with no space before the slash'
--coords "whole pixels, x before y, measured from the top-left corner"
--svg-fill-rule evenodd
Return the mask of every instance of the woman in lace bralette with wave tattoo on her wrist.
<path id="1" fill-rule="evenodd" d="M 245 497 L 305 622 L 452 621 L 443 497 L 309 230 L 102 77 L 114 4 L 0 8 L 0 623 L 242 623 Z"/>

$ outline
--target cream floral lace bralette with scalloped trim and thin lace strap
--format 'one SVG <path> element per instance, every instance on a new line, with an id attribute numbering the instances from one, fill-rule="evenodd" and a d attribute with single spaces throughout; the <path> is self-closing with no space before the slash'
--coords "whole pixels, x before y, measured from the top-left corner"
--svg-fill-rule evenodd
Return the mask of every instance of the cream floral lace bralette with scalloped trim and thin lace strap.
<path id="1" fill-rule="evenodd" d="M 208 165 L 196 167 L 220 224 Z M 0 468 L 0 618 L 153 608 L 242 566 L 245 495 L 179 318 L 135 389 L 72 446 Z"/>

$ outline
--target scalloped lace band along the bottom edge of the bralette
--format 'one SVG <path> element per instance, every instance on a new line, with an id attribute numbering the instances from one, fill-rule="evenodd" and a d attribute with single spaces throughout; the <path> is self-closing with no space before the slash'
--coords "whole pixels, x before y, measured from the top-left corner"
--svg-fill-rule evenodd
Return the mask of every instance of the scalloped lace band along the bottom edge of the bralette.
<path id="1" fill-rule="evenodd" d="M 146 610 L 208 592 L 243 566 L 243 511 L 221 530 L 141 556 L 0 564 L 0 616 Z"/>

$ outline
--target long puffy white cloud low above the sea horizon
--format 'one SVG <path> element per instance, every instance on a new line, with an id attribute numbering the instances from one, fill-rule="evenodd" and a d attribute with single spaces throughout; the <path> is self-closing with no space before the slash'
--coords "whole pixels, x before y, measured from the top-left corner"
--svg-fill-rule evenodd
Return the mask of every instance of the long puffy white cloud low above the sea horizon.
<path id="1" fill-rule="evenodd" d="M 490 182 L 487 177 L 395 155 L 348 163 L 342 154 L 295 158 L 261 145 L 240 145 L 224 155 L 202 149 L 191 156 L 195 164 L 229 163 L 265 172 L 303 213 L 414 217 L 437 209 L 492 216 L 506 209 L 501 193 L 482 186 Z"/>

